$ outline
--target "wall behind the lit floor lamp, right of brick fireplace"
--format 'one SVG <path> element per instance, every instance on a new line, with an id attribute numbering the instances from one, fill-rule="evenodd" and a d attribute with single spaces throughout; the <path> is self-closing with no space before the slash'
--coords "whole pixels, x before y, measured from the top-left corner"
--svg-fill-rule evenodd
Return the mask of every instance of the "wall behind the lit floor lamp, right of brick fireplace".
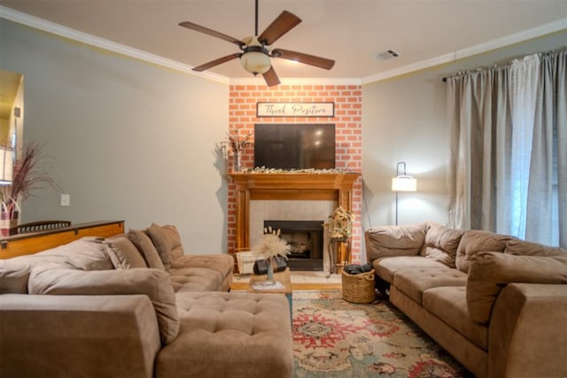
<path id="1" fill-rule="evenodd" d="M 405 161 L 417 179 L 415 193 L 400 193 L 399 223 L 447 223 L 446 84 L 452 73 L 503 64 L 567 45 L 567 31 L 517 43 L 428 70 L 362 87 L 363 228 L 394 223 L 391 191 L 396 164 Z"/>

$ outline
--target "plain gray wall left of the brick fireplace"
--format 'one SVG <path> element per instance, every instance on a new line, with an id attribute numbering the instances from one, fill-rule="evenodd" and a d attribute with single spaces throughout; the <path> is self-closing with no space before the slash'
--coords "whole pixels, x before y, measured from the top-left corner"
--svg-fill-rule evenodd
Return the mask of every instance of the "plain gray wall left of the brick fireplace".
<path id="1" fill-rule="evenodd" d="M 43 144 L 52 190 L 22 221 L 175 224 L 185 250 L 226 251 L 227 187 L 215 143 L 228 130 L 228 86 L 0 19 L 0 65 L 24 74 L 26 141 Z M 220 165 L 220 166 L 219 166 Z"/>

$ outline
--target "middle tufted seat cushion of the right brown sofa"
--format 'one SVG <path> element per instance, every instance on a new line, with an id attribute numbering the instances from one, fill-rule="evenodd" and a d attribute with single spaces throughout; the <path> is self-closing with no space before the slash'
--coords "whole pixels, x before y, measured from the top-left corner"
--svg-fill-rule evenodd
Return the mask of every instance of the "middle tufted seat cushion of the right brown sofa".
<path id="1" fill-rule="evenodd" d="M 422 305 L 423 291 L 439 286 L 462 286 L 467 284 L 467 274 L 447 266 L 405 269 L 396 273 L 394 286 L 406 296 Z"/>

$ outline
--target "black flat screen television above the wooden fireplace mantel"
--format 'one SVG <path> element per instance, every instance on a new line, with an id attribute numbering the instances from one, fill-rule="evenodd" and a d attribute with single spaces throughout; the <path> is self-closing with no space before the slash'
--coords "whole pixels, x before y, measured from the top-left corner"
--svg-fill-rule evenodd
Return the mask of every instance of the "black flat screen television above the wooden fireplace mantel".
<path id="1" fill-rule="evenodd" d="M 254 166 L 276 169 L 335 168 L 335 125 L 254 125 Z"/>

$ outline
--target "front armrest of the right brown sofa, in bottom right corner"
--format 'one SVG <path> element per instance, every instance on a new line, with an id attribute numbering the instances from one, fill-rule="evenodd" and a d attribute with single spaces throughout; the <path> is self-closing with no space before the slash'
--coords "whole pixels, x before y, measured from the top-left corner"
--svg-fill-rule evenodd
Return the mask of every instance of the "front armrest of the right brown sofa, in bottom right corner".
<path id="1" fill-rule="evenodd" d="M 567 376 L 567 285 L 508 284 L 488 340 L 489 377 Z"/>

